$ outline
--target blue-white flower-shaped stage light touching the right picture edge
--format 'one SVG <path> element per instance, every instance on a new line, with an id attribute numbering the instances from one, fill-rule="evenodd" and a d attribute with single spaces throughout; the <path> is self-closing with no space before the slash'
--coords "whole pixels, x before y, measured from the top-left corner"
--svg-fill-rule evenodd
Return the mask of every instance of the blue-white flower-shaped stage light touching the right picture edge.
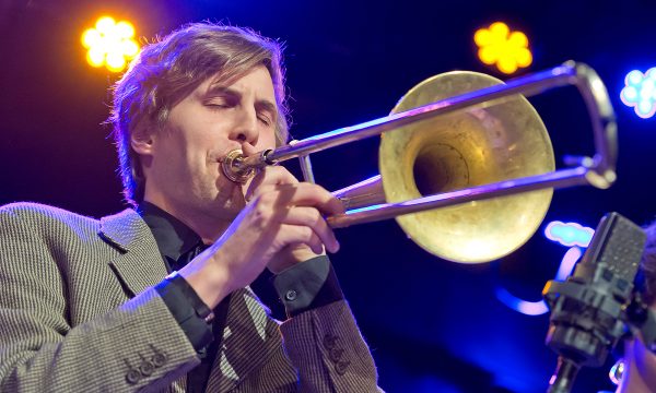
<path id="1" fill-rule="evenodd" d="M 656 67 L 644 74 L 633 70 L 624 78 L 624 88 L 620 93 L 622 103 L 632 107 L 635 115 L 643 119 L 656 112 Z"/>

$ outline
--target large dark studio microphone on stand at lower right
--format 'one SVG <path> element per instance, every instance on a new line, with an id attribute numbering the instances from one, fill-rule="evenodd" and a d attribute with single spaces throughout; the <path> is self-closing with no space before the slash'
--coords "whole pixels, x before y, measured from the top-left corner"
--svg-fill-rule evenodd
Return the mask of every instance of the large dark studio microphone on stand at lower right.
<path id="1" fill-rule="evenodd" d="M 546 343 L 559 355 L 548 392 L 570 392 L 578 369 L 602 366 L 623 335 L 645 240 L 641 227 L 608 213 L 574 274 L 544 286 L 551 309 Z"/>

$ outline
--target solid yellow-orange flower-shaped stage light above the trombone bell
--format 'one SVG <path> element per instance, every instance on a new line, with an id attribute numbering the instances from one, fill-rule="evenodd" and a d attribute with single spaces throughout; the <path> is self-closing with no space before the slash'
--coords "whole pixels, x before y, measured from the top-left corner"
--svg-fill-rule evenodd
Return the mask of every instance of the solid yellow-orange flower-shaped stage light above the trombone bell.
<path id="1" fill-rule="evenodd" d="M 488 28 L 479 28 L 473 35 L 479 47 L 478 57 L 488 66 L 496 64 L 499 71 L 512 74 L 532 62 L 528 37 L 522 32 L 511 32 L 507 24 L 495 22 Z"/>

